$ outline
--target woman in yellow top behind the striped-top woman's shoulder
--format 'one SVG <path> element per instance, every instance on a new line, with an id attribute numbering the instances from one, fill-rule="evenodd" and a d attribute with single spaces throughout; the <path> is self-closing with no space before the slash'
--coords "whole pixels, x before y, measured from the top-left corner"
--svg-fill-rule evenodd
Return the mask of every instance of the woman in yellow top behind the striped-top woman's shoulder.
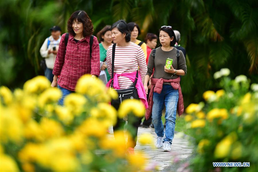
<path id="1" fill-rule="evenodd" d="M 131 31 L 131 42 L 139 45 L 145 55 L 145 59 L 147 58 L 147 46 L 143 41 L 137 40 L 136 38 L 138 37 L 138 35 L 141 34 L 141 30 L 140 27 L 138 26 L 138 24 L 134 23 L 134 22 L 130 22 L 127 24 L 128 25 L 128 29 Z"/>

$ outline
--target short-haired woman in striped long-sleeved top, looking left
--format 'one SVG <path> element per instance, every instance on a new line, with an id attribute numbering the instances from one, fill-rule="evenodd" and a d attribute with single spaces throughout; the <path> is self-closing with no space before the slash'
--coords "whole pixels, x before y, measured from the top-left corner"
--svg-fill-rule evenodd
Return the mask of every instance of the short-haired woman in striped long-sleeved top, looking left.
<path id="1" fill-rule="evenodd" d="M 115 49 L 115 59 L 114 59 L 114 76 L 117 74 L 117 80 L 118 81 L 118 88 L 116 89 L 126 89 L 129 88 L 133 81 L 129 79 L 126 76 L 121 76 L 123 73 L 133 73 L 138 70 L 139 76 L 137 84 L 142 85 L 142 79 L 144 78 L 144 75 L 147 72 L 147 65 L 146 60 L 144 56 L 144 52 L 142 51 L 142 48 L 138 45 L 136 45 L 133 42 L 130 42 L 130 31 L 128 29 L 127 23 L 124 20 L 119 20 L 115 22 L 111 26 L 111 36 L 113 39 L 113 42 L 116 43 L 116 49 Z M 112 76 L 112 45 L 108 47 L 107 49 L 107 71 Z M 114 81 L 115 82 L 115 81 Z M 114 83 L 115 84 L 115 83 Z M 116 83 L 117 84 L 117 83 Z M 107 85 L 110 85 L 110 82 L 107 83 Z M 138 90 L 138 94 L 141 90 Z M 142 91 L 144 93 L 144 91 Z M 146 94 L 144 93 L 145 97 L 139 98 L 144 102 L 144 105 L 148 107 L 146 103 Z M 120 104 L 114 104 L 113 105 L 117 110 L 120 106 Z M 129 120 L 131 121 L 131 120 Z M 122 119 L 118 118 L 117 124 L 113 126 L 114 131 L 120 129 L 120 126 L 123 126 L 124 124 Z M 137 139 L 137 131 L 138 131 L 138 120 L 135 121 L 133 124 L 133 130 L 131 132 L 132 137 L 134 138 L 134 147 L 136 145 L 136 139 Z M 116 138 L 116 136 L 115 136 Z M 133 150 L 133 148 L 129 148 Z"/>

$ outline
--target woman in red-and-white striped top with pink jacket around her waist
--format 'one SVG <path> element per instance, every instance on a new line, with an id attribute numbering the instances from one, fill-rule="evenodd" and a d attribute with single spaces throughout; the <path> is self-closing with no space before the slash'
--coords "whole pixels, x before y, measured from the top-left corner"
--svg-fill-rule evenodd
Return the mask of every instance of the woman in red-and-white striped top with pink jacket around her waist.
<path id="1" fill-rule="evenodd" d="M 124 20 L 119 20 L 111 26 L 111 34 L 114 45 L 109 46 L 107 49 L 107 71 L 111 76 L 110 81 L 107 83 L 107 87 L 113 87 L 117 90 L 133 87 L 132 85 L 135 84 L 134 81 L 136 80 L 136 76 L 138 73 L 138 79 L 135 87 L 138 92 L 138 98 L 140 98 L 142 103 L 147 108 L 147 98 L 142 84 L 142 79 L 147 72 L 147 65 L 142 48 L 134 44 L 133 42 L 130 42 L 130 31 L 128 29 L 127 23 Z M 113 73 L 114 75 L 112 78 L 113 46 L 115 50 Z M 119 103 L 112 103 L 112 105 L 118 110 L 120 107 L 120 101 Z M 130 134 L 134 139 L 134 143 L 132 145 L 127 145 L 128 150 L 131 152 L 134 150 L 134 146 L 136 146 L 137 132 L 139 126 L 139 119 L 134 118 L 135 117 L 133 116 L 128 116 L 128 124 L 132 126 Z M 123 126 L 123 119 L 117 118 L 117 123 L 113 126 L 113 129 L 114 131 L 119 129 L 123 130 Z M 125 146 L 125 143 L 123 146 Z"/>

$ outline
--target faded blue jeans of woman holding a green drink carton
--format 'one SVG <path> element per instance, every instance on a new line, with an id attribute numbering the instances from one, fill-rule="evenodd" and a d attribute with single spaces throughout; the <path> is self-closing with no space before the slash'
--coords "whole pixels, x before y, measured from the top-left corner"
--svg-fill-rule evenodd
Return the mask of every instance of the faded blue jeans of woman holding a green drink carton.
<path id="1" fill-rule="evenodd" d="M 165 103 L 166 129 L 163 142 L 169 142 L 170 144 L 174 138 L 178 98 L 178 90 L 173 89 L 171 85 L 164 84 L 160 94 L 153 92 L 152 123 L 155 128 L 155 133 L 159 137 L 164 136 L 164 126 L 161 116 Z"/>

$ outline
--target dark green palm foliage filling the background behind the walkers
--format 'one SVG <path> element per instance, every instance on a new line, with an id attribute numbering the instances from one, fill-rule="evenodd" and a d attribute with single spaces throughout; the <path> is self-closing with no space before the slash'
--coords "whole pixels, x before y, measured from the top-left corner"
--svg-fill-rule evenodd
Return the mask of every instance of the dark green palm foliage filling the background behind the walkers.
<path id="1" fill-rule="evenodd" d="M 94 35 L 118 19 L 138 23 L 142 29 L 140 40 L 148 32 L 158 35 L 163 25 L 179 30 L 180 44 L 187 52 L 187 75 L 181 81 L 185 105 L 200 101 L 203 91 L 216 89 L 212 76 L 220 68 L 229 68 L 232 76 L 244 74 L 252 82 L 258 81 L 255 0 L 15 0 L 0 1 L 0 6 L 4 7 L 0 14 L 0 38 L 1 56 L 5 57 L 1 65 L 10 66 L 9 71 L 1 69 L 1 75 L 12 73 L 8 81 L 1 79 L 1 85 L 17 87 L 43 74 L 39 49 L 50 35 L 48 29 L 59 25 L 63 33 L 67 32 L 69 16 L 79 9 L 91 18 Z M 13 62 L 4 60 L 6 56 L 13 57 Z"/>

